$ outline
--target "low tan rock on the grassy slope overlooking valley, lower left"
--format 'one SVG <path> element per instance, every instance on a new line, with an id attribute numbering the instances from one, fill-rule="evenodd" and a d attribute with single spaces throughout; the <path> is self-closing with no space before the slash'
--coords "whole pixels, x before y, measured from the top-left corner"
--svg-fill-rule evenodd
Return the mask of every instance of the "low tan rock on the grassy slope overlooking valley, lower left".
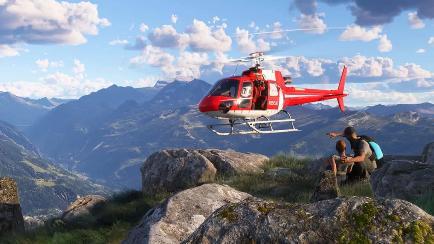
<path id="1" fill-rule="evenodd" d="M 105 197 L 100 195 L 87 195 L 77 199 L 71 205 L 66 208 L 62 214 L 63 221 L 70 221 L 79 215 L 90 213 L 90 209 L 93 208 L 98 202 L 106 201 Z"/>

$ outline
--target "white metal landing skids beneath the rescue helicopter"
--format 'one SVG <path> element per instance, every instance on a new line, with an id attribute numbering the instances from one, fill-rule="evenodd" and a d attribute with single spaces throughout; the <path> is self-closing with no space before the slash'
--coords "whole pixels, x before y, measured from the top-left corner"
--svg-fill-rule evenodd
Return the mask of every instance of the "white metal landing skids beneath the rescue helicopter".
<path id="1" fill-rule="evenodd" d="M 283 132 L 293 132 L 293 131 L 301 131 L 294 127 L 293 121 L 295 121 L 293 118 L 291 118 L 291 115 L 285 111 L 281 110 L 280 112 L 284 112 L 288 115 L 289 119 L 286 120 L 270 120 L 266 116 L 262 116 L 260 118 L 254 119 L 253 121 L 249 122 L 248 120 L 243 120 L 243 122 L 235 123 L 236 120 L 230 121 L 230 123 L 227 124 L 210 124 L 207 125 L 208 129 L 213 131 L 219 136 L 230 136 L 230 135 L 245 135 L 245 134 L 254 134 L 254 133 L 260 133 L 260 134 L 271 134 L 271 133 L 283 133 Z M 264 121 L 260 121 L 260 119 L 264 118 Z M 291 122 L 292 129 L 286 129 L 286 130 L 273 130 L 273 123 L 282 123 L 282 122 Z M 240 132 L 233 132 L 233 126 L 235 125 L 247 125 L 252 129 L 251 131 L 240 131 Z M 214 130 L 214 127 L 217 126 L 230 126 L 230 132 L 229 133 L 221 133 L 217 130 Z M 261 130 L 263 128 L 270 128 L 270 130 Z"/>

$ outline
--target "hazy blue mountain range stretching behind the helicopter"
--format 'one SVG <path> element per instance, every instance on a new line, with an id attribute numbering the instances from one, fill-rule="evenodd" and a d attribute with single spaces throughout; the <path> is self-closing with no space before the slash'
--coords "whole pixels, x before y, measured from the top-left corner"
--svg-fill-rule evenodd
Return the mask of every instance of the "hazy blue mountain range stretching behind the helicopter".
<path id="1" fill-rule="evenodd" d="M 420 155 L 434 138 L 431 103 L 345 107 L 348 115 L 338 107 L 304 104 L 286 108 L 301 131 L 222 137 L 205 127 L 221 121 L 197 110 L 210 87 L 206 81 L 183 78 L 159 80 L 154 87 L 145 88 L 112 85 L 50 108 L 22 131 L 39 153 L 57 166 L 114 189 L 138 189 L 140 166 L 162 149 L 231 148 L 267 156 L 281 151 L 327 155 L 334 153 L 335 142 L 342 137 L 330 139 L 325 133 L 341 132 L 348 125 L 358 134 L 374 137 L 386 154 Z M 286 128 L 288 124 L 273 127 Z"/>

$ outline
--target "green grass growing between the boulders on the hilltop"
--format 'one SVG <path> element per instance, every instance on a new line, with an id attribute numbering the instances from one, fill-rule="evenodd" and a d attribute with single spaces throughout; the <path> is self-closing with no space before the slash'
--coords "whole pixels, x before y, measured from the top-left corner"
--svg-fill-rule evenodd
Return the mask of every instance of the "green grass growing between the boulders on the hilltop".
<path id="1" fill-rule="evenodd" d="M 310 159 L 312 157 L 300 159 L 280 153 L 263 166 L 263 174 L 219 175 L 214 182 L 230 185 L 234 189 L 260 198 L 305 203 L 309 201 L 317 183 L 317 179 L 301 174 L 303 166 Z M 276 168 L 289 168 L 291 173 L 276 175 Z M 188 184 L 184 189 L 191 187 L 194 185 Z M 342 195 L 374 198 L 368 182 L 343 185 L 340 190 Z M 95 205 L 89 215 L 82 215 L 66 226 L 53 227 L 55 219 L 52 219 L 46 226 L 26 231 L 21 235 L 6 236 L 1 243 L 120 244 L 149 209 L 174 193 L 143 195 L 140 191 L 124 191 L 114 195 L 107 202 Z M 428 192 L 421 198 L 412 198 L 408 201 L 427 213 L 434 214 L 433 193 Z"/>

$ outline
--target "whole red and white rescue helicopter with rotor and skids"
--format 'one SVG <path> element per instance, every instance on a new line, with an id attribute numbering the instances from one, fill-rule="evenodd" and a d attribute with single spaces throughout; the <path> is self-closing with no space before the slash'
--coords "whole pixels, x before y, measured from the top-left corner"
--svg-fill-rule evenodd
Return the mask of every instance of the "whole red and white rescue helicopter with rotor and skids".
<path id="1" fill-rule="evenodd" d="M 220 136 L 239 134 L 269 134 L 301 131 L 294 127 L 294 119 L 288 111 L 288 106 L 306 104 L 316 101 L 337 99 L 339 109 L 344 113 L 343 97 L 347 67 L 343 67 L 337 90 L 320 90 L 286 86 L 292 83 L 291 77 L 283 77 L 282 72 L 266 70 L 259 62 L 264 60 L 283 59 L 273 57 L 264 52 L 253 52 L 249 57 L 230 62 L 255 62 L 253 67 L 236 76 L 222 78 L 204 94 L 198 104 L 199 111 L 211 118 L 229 120 L 226 124 L 211 124 L 207 128 Z M 238 66 L 238 65 L 237 65 Z M 270 120 L 270 117 L 283 113 L 288 119 Z M 242 122 L 236 122 L 237 120 Z M 251 121 L 253 120 L 253 121 Z M 273 123 L 290 122 L 292 128 L 274 130 Z M 235 125 L 247 125 L 251 130 L 234 132 Z M 230 132 L 222 133 L 214 129 L 218 126 L 230 126 Z M 269 128 L 269 130 L 263 130 Z"/>

